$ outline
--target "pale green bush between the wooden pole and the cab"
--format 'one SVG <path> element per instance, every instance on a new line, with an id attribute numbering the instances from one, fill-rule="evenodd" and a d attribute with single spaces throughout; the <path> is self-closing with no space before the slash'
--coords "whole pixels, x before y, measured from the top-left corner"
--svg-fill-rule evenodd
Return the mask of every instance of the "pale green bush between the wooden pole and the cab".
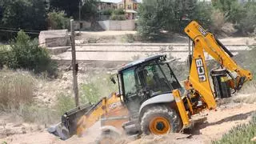
<path id="1" fill-rule="evenodd" d="M 94 75 L 89 82 L 82 85 L 82 101 L 98 102 L 99 98 L 107 97 L 112 92 L 116 92 L 118 86 L 110 81 L 110 75 Z"/>

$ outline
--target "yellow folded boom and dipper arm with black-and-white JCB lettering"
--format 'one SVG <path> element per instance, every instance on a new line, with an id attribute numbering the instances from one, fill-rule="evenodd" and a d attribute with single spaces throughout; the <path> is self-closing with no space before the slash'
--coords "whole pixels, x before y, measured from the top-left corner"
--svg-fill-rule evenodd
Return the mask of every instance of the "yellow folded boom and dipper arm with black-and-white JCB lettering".
<path id="1" fill-rule="evenodd" d="M 185 32 L 194 42 L 193 58 L 190 66 L 190 84 L 194 90 L 202 95 L 209 109 L 215 108 L 216 103 L 209 82 L 204 52 L 210 54 L 222 68 L 237 74 L 237 77 L 230 81 L 233 84 L 233 86 L 230 86 L 231 88 L 239 90 L 244 82 L 252 79 L 250 71 L 238 66 L 231 58 L 233 54 L 214 37 L 214 34 L 204 30 L 198 22 L 190 22 L 186 26 Z"/>

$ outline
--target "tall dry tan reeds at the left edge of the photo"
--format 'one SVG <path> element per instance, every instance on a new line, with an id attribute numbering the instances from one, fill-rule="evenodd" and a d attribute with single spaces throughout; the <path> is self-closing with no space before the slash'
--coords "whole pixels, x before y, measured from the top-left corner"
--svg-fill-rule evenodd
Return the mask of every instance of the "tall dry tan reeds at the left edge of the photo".
<path id="1" fill-rule="evenodd" d="M 2 109 L 18 108 L 20 104 L 33 101 L 35 78 L 30 73 L 1 71 L 0 82 L 0 106 Z"/>

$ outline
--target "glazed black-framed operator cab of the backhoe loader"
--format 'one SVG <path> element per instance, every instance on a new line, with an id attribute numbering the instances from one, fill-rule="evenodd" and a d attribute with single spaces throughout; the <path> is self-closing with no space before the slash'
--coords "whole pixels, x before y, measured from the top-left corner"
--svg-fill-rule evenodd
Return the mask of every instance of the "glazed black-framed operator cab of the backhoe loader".
<path id="1" fill-rule="evenodd" d="M 164 54 L 123 66 L 118 70 L 118 84 L 124 103 L 135 113 L 147 99 L 182 89 Z"/>

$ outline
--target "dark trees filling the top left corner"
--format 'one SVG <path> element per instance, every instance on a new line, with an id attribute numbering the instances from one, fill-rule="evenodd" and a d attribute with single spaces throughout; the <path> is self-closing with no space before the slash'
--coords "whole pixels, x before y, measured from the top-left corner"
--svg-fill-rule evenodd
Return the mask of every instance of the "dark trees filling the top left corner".
<path id="1" fill-rule="evenodd" d="M 3 0 L 0 7 L 2 7 L 0 26 L 26 30 L 46 29 L 45 0 Z M 10 32 L 1 32 L 1 35 L 3 38 L 10 35 L 11 38 Z"/>

